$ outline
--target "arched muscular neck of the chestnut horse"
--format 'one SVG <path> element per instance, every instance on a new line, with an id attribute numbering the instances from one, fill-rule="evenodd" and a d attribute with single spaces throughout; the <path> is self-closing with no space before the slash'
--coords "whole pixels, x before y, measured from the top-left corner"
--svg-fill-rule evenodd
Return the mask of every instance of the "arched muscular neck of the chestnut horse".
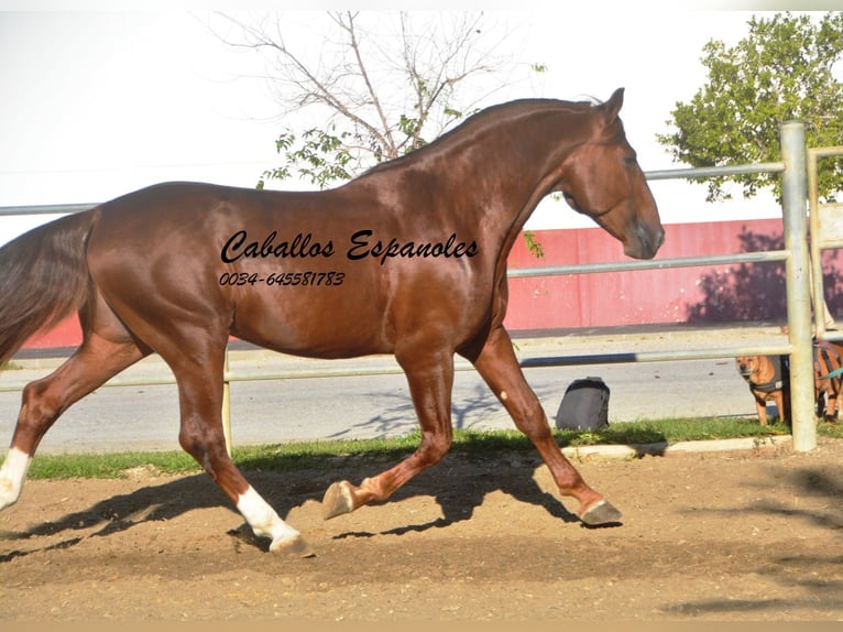
<path id="1" fill-rule="evenodd" d="M 424 210 L 431 219 L 470 226 L 505 255 L 538 203 L 552 190 L 555 170 L 587 140 L 590 126 L 581 116 L 545 105 L 490 118 L 383 163 L 359 181 L 392 199 L 396 194 L 398 199 L 413 196 L 396 214 Z M 405 193 L 396 187 L 405 187 Z"/>

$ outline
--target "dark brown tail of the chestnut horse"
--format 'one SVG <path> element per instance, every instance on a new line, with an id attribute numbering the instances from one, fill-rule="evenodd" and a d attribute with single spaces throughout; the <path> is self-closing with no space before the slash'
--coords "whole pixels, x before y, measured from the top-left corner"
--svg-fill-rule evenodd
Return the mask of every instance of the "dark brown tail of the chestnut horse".
<path id="1" fill-rule="evenodd" d="M 0 248 L 0 364 L 88 296 L 88 235 L 97 211 L 63 217 Z"/>

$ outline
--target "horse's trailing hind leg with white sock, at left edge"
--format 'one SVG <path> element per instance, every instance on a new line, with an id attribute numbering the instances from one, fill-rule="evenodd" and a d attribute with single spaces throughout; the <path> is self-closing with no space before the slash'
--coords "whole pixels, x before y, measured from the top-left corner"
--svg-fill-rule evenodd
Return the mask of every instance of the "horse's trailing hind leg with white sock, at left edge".
<path id="1" fill-rule="evenodd" d="M 145 355 L 129 337 L 116 342 L 88 333 L 64 364 L 46 378 L 26 384 L 11 447 L 0 467 L 0 509 L 20 497 L 32 457 L 62 413 Z"/>

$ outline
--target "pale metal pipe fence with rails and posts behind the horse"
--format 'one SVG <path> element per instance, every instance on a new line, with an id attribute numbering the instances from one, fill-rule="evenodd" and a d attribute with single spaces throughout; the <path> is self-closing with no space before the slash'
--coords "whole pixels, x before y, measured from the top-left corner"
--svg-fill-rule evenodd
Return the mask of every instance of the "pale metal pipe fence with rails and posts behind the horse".
<path id="1" fill-rule="evenodd" d="M 752 173 L 781 173 L 782 184 L 782 218 L 785 230 L 785 248 L 764 252 L 744 252 L 727 255 L 689 257 L 663 259 L 655 261 L 624 261 L 607 263 L 589 263 L 557 265 L 545 268 L 529 268 L 511 270 L 510 277 L 548 276 L 557 274 L 585 274 L 604 273 L 634 270 L 660 270 L 669 268 L 701 266 L 722 263 L 756 263 L 784 261 L 786 265 L 785 280 L 787 292 L 788 312 L 788 342 L 778 345 L 734 346 L 705 349 L 677 349 L 660 352 L 617 353 L 600 356 L 600 362 L 647 362 L 692 360 L 710 358 L 729 358 L 744 355 L 788 355 L 790 356 L 790 390 L 791 390 L 791 423 L 793 435 L 793 449 L 796 451 L 809 451 L 817 446 L 817 429 L 814 422 L 814 392 L 813 392 L 813 359 L 811 345 L 811 293 L 822 295 L 822 274 L 819 266 L 819 257 L 810 257 L 808 240 L 808 218 L 806 200 L 809 197 L 809 183 L 813 201 L 810 213 L 811 228 L 814 239 L 811 241 L 811 253 L 819 252 L 822 248 L 840 248 L 843 243 L 823 241 L 818 239 L 820 235 L 818 205 L 815 204 L 815 170 L 817 157 L 825 155 L 843 155 L 843 148 L 822 148 L 819 150 L 806 149 L 804 124 L 800 121 L 789 121 L 780 128 L 781 162 L 763 163 L 755 165 L 740 165 L 726 167 L 705 168 L 677 168 L 647 172 L 647 179 L 679 179 L 679 178 L 705 178 L 722 175 L 752 174 Z M 810 165 L 808 164 L 808 161 Z M 810 166 L 810 168 L 809 168 Z M 85 210 L 94 205 L 57 205 L 48 207 L 6 207 L 0 208 L 0 217 L 10 215 L 46 215 L 67 214 Z M 843 211 L 842 211 L 843 213 Z M 843 240 L 843 237 L 841 237 Z M 811 265 L 813 261 L 813 284 L 810 281 Z M 820 285 L 818 285 L 818 282 Z M 818 309 L 818 312 L 820 312 Z M 821 334 L 818 318 L 818 335 Z M 822 329 L 824 331 L 824 329 Z M 595 357 L 596 358 L 596 357 Z M 578 358 L 535 358 L 522 362 L 524 368 L 562 366 L 572 362 L 583 363 L 588 357 Z M 238 381 L 255 380 L 282 380 L 315 377 L 358 377 L 401 373 L 395 367 L 374 368 L 318 368 L 314 370 L 295 371 L 267 371 L 260 373 L 243 373 L 229 367 L 228 356 L 225 367 L 223 390 L 223 426 L 229 449 L 231 447 L 231 418 L 230 418 L 230 384 Z M 121 379 L 112 378 L 106 386 L 128 385 L 153 385 L 175 383 L 172 373 L 155 378 Z M 0 391 L 3 389 L 0 384 Z"/>

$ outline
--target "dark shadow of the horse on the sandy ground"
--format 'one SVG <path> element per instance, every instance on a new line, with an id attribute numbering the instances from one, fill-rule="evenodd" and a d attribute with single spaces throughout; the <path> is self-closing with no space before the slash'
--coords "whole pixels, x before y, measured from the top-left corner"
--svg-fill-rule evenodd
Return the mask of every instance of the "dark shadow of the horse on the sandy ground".
<path id="1" fill-rule="evenodd" d="M 282 457 L 283 458 L 283 457 Z M 576 522 L 559 499 L 541 490 L 533 480 L 533 472 L 540 461 L 528 457 L 502 457 L 495 468 L 493 459 L 484 458 L 477 468 L 478 473 L 460 480 L 451 479 L 449 471 L 456 465 L 455 459 L 446 457 L 440 464 L 423 472 L 416 479 L 399 489 L 384 503 L 395 502 L 416 495 L 433 495 L 441 508 L 441 517 L 421 524 L 407 524 L 380 532 L 380 534 L 401 535 L 409 532 L 423 532 L 429 529 L 442 529 L 469 520 L 485 495 L 493 491 L 503 491 L 513 498 L 543 506 L 551 515 L 565 522 Z M 321 501 L 328 486 L 340 478 L 359 482 L 364 476 L 380 471 L 383 458 L 366 460 L 365 457 L 348 457 L 353 465 L 339 465 L 332 471 L 316 471 L 313 477 L 303 480 L 297 475 L 291 484 L 285 471 L 254 471 L 243 468 L 253 487 L 284 516 L 294 508 L 307 501 Z M 248 465 L 248 464 L 247 464 Z M 280 467 L 284 470 L 285 467 Z M 473 468 L 472 468 L 473 469 Z M 366 470 L 363 472 L 362 470 Z M 494 470 L 494 471 L 493 471 Z M 21 502 L 25 502 L 25 498 Z M 375 503 L 373 506 L 377 504 Z M 0 542 L 25 542 L 36 537 L 51 537 L 53 542 L 40 548 L 20 548 L 0 553 L 0 564 L 24 557 L 37 551 L 52 551 L 73 547 L 84 540 L 110 537 L 127 532 L 134 526 L 149 522 L 168 522 L 190 511 L 200 509 L 226 508 L 232 516 L 240 517 L 237 510 L 227 501 L 220 490 L 201 472 L 187 475 L 163 483 L 150 484 L 124 494 L 117 494 L 91 504 L 88 508 L 67 513 L 57 520 L 30 525 L 21 531 L 0 532 Z M 336 519 L 341 525 L 341 516 Z M 232 525 L 229 535 L 239 537 L 247 544 L 266 551 L 269 542 L 251 535 L 245 524 Z M 373 532 L 338 532 L 335 538 L 372 537 Z"/>

